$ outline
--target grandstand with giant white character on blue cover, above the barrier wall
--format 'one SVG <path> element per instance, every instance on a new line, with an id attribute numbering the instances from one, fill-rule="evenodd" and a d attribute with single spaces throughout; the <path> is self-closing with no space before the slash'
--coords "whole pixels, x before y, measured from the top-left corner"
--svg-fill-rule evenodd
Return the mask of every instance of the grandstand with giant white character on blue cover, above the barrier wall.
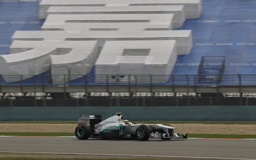
<path id="1" fill-rule="evenodd" d="M 9 36 L 0 39 L 0 106 L 254 104 L 256 65 L 248 53 L 254 38 L 235 37 L 227 26 L 255 20 L 222 12 L 250 7 L 240 0 L 0 4 L 34 9 L 33 16 L 21 14 L 30 21 L 0 16 L 1 32 Z"/>

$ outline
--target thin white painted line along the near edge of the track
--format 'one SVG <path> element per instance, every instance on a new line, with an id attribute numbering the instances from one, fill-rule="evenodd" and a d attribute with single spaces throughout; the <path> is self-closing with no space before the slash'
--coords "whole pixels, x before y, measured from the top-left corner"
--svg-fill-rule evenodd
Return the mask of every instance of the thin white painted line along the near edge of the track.
<path id="1" fill-rule="evenodd" d="M 192 156 L 171 156 L 171 155 L 123 155 L 123 154 L 63 153 L 63 152 L 11 152 L 11 151 L 0 151 L 0 153 L 59 154 L 59 155 L 117 155 L 117 156 L 197 158 L 197 159 L 219 159 L 219 160 L 256 160 L 256 159 L 247 159 L 247 158 L 192 157 Z"/>

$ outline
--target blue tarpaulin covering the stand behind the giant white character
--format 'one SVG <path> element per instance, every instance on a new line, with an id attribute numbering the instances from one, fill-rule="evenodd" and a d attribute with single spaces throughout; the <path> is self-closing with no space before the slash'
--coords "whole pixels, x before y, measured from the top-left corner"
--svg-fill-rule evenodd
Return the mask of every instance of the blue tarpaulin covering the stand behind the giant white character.
<path id="1" fill-rule="evenodd" d="M 11 36 L 17 30 L 40 30 L 44 20 L 38 19 L 40 1 L 0 0 L 0 54 L 8 54 Z M 256 0 L 202 0 L 202 15 L 188 19 L 179 30 L 192 30 L 193 48 L 188 55 L 179 55 L 172 75 L 174 84 L 186 84 L 185 75 L 197 75 L 202 56 L 223 55 L 226 65 L 220 84 L 238 84 L 236 74 L 242 76 L 242 84 L 252 83 L 256 76 Z M 42 82 L 43 73 L 22 84 L 47 84 Z M 88 77 L 93 83 L 94 69 Z M 47 76 L 45 76 L 47 77 Z M 182 80 L 181 80 L 182 79 Z M 194 76 L 188 76 L 194 80 Z M 36 82 L 35 82 L 36 80 Z M 84 78 L 73 80 L 70 85 L 84 84 Z M 173 84 L 171 77 L 167 82 Z M 193 82 L 192 82 L 193 83 Z M 3 83 L 2 85 L 4 85 Z M 20 82 L 11 83 L 20 85 Z M 166 83 L 165 83 L 166 84 Z"/>

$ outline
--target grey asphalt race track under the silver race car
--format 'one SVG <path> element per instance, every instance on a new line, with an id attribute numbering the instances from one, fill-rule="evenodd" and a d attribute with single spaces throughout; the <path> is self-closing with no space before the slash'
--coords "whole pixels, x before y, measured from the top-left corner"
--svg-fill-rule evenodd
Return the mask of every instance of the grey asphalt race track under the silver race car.
<path id="1" fill-rule="evenodd" d="M 0 137 L 0 152 L 256 160 L 256 139 L 172 139 L 170 141 L 150 139 L 138 141 L 78 140 L 75 137 Z"/>

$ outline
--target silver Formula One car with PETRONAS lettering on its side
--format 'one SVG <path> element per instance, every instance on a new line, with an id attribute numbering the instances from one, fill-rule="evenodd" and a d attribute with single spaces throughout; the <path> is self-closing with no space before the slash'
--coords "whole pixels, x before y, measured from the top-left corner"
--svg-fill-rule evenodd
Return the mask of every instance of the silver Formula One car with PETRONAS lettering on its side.
<path id="1" fill-rule="evenodd" d="M 169 124 L 133 124 L 123 120 L 121 113 L 101 121 L 101 115 L 82 115 L 78 117 L 75 136 L 78 139 L 187 139 L 187 134 L 174 133 Z"/>

